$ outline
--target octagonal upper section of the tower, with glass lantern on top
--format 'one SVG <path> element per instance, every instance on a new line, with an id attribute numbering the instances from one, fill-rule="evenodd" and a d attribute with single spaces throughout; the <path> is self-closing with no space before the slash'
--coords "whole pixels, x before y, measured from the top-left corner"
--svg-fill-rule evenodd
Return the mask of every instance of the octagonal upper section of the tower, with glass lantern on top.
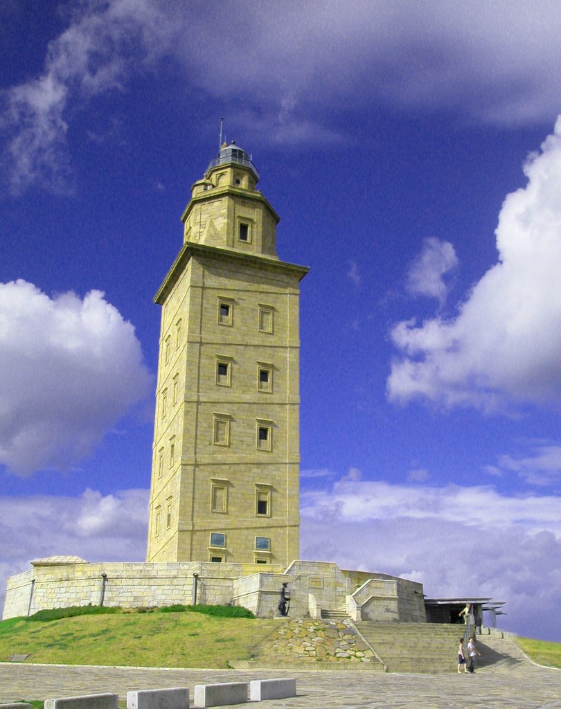
<path id="1" fill-rule="evenodd" d="M 191 187 L 182 215 L 184 242 L 278 258 L 279 216 L 255 189 L 259 177 L 245 150 L 223 144 L 204 178 Z"/>

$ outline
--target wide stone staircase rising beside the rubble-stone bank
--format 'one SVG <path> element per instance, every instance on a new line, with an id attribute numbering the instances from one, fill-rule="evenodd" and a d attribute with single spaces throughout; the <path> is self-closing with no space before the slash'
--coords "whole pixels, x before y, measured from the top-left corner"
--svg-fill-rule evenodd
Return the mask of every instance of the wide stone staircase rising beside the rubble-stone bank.
<path id="1" fill-rule="evenodd" d="M 463 625 L 356 622 L 388 672 L 437 674 L 457 669 Z"/>

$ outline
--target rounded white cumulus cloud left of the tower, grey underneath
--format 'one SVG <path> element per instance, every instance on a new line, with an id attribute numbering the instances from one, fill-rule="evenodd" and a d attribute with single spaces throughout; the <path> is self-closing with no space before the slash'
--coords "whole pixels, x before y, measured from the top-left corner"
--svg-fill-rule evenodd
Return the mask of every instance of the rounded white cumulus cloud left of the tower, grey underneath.
<path id="1" fill-rule="evenodd" d="M 0 284 L 0 464 L 70 469 L 150 383 L 133 325 L 100 291 Z"/>

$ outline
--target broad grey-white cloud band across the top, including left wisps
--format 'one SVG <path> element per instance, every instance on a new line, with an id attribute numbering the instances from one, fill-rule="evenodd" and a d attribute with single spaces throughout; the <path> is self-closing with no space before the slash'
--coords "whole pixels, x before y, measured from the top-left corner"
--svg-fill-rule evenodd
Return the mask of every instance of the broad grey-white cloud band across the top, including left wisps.
<path id="1" fill-rule="evenodd" d="M 188 90 L 220 99 L 233 128 L 282 145 L 350 139 L 334 119 L 342 106 L 359 112 L 373 98 L 506 125 L 552 120 L 558 111 L 561 18 L 552 0 L 514 0 L 509 13 L 468 0 L 437 0 L 431 13 L 407 0 L 328 2 L 321 11 L 288 2 L 227 8 L 180 0 L 74 8 L 43 72 L 4 91 L 11 189 L 69 189 L 75 116 L 94 96 L 128 90 L 133 74 L 165 74 L 170 63 L 184 71 Z"/>

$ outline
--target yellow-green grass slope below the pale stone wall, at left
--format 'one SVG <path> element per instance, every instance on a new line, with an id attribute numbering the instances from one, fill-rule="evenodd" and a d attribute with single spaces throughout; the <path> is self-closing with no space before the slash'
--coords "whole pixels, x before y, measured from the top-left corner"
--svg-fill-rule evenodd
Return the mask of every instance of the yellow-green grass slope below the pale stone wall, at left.
<path id="1" fill-rule="evenodd" d="M 248 659 L 274 620 L 214 618 L 201 613 L 112 613 L 33 623 L 0 622 L 0 661 L 152 667 L 228 667 Z"/>

